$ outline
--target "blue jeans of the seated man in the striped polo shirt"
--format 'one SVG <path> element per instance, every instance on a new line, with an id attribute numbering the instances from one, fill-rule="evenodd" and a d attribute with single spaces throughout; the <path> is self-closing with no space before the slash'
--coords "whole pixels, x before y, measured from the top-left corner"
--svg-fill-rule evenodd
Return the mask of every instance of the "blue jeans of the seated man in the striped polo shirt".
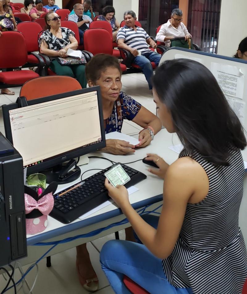
<path id="1" fill-rule="evenodd" d="M 133 62 L 139 65 L 144 73 L 144 76 L 149 83 L 149 89 L 152 89 L 151 77 L 153 76 L 153 67 L 150 61 L 155 62 L 158 66 L 161 59 L 161 55 L 157 52 L 151 53 L 142 53 L 141 55 L 136 56 Z"/>

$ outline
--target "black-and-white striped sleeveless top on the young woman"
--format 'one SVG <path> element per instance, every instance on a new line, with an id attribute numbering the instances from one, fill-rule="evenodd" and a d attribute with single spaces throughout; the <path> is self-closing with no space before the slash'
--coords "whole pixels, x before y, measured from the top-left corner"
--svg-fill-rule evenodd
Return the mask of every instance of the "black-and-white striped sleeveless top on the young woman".
<path id="1" fill-rule="evenodd" d="M 187 204 L 172 254 L 162 260 L 165 275 L 177 288 L 193 294 L 241 294 L 247 278 L 247 253 L 238 225 L 243 197 L 244 163 L 240 150 L 231 151 L 229 166 L 216 166 L 199 153 L 183 150 L 206 171 L 207 197 Z"/>

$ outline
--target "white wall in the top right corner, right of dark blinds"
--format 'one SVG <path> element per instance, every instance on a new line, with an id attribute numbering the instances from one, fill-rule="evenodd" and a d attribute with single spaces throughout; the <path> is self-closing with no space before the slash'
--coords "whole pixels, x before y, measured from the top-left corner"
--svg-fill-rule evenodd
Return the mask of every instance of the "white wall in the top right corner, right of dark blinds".
<path id="1" fill-rule="evenodd" d="M 232 57 L 247 36 L 246 0 L 221 0 L 218 54 Z"/>

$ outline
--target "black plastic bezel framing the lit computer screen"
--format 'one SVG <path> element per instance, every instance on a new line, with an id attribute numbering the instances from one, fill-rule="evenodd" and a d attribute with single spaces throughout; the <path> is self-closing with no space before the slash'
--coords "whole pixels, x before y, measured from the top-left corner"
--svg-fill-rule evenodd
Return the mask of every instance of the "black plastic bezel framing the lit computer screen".
<path id="1" fill-rule="evenodd" d="M 93 145 L 87 146 L 87 147 L 79 147 L 79 148 L 75 149 L 74 151 L 64 152 L 61 155 L 57 156 L 57 158 L 52 158 L 48 161 L 42 162 L 37 165 L 33 165 L 31 167 L 28 167 L 27 168 L 27 175 L 46 170 L 48 168 L 52 168 L 58 164 L 61 164 L 65 161 L 68 161 L 70 159 L 77 158 L 82 155 L 86 155 L 90 152 L 95 152 L 95 151 L 98 151 L 99 149 L 106 147 L 106 138 L 105 138 L 105 128 L 104 128 L 104 118 L 103 118 L 102 98 L 101 98 L 100 86 L 94 86 L 94 87 L 90 87 L 90 88 L 70 91 L 70 92 L 66 92 L 66 93 L 61 93 L 61 94 L 57 94 L 57 95 L 52 95 L 52 96 L 47 96 L 47 97 L 42 97 L 42 98 L 37 98 L 37 99 L 27 101 L 27 105 L 32 106 L 32 105 L 40 104 L 43 102 L 58 100 L 61 98 L 85 94 L 85 93 L 89 93 L 89 92 L 93 92 L 93 91 L 97 91 L 99 121 L 100 121 L 102 141 L 99 143 L 95 143 Z M 17 109 L 17 108 L 20 108 L 17 102 L 2 106 L 5 137 L 10 141 L 11 144 L 13 144 L 13 138 L 12 138 L 12 132 L 11 132 L 9 111 Z M 31 139 L 31 138 L 27 138 L 27 139 Z M 65 156 L 66 156 L 66 158 L 65 158 Z"/>

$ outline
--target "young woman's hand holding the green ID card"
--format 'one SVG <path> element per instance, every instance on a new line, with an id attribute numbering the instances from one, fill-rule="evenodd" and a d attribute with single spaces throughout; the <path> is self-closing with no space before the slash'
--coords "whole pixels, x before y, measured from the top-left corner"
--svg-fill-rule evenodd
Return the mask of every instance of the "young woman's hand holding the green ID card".
<path id="1" fill-rule="evenodd" d="M 122 209 L 128 207 L 130 205 L 129 202 L 129 193 L 128 190 L 122 186 L 119 185 L 116 188 L 113 187 L 108 179 L 105 180 L 105 187 L 108 190 L 108 195 L 111 197 L 113 201 Z"/>

